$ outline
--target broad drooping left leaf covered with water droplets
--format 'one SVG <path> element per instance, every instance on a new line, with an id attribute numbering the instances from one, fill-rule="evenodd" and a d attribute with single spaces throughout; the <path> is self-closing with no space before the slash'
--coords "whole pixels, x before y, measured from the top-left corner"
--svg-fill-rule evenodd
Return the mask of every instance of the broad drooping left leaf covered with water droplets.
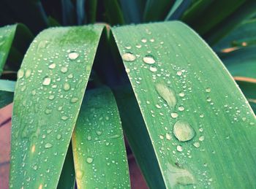
<path id="1" fill-rule="evenodd" d="M 50 28 L 18 72 L 10 188 L 56 188 L 103 25 Z"/>

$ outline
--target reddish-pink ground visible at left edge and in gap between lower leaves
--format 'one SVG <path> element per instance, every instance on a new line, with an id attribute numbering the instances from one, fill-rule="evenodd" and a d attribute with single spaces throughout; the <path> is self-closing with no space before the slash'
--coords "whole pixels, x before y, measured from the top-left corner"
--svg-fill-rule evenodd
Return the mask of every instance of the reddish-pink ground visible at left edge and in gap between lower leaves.
<path id="1" fill-rule="evenodd" d="M 12 104 L 0 109 L 0 189 L 7 189 L 9 183 L 11 116 Z M 132 188 L 146 189 L 146 182 L 132 154 L 128 161 Z"/>

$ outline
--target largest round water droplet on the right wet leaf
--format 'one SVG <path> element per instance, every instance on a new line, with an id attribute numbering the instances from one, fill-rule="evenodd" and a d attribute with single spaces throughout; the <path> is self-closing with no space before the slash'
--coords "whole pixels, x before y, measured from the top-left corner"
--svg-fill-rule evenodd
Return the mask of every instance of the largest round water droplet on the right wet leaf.
<path id="1" fill-rule="evenodd" d="M 195 131 L 187 121 L 178 120 L 173 126 L 173 134 L 179 141 L 186 142 L 195 136 Z"/>

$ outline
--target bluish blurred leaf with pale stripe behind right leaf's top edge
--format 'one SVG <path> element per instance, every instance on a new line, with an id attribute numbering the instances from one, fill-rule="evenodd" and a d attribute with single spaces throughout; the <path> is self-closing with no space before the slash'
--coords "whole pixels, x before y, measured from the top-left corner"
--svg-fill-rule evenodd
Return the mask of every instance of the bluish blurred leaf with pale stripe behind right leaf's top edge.
<path id="1" fill-rule="evenodd" d="M 191 4 L 192 0 L 176 0 L 165 20 L 177 20 Z"/>

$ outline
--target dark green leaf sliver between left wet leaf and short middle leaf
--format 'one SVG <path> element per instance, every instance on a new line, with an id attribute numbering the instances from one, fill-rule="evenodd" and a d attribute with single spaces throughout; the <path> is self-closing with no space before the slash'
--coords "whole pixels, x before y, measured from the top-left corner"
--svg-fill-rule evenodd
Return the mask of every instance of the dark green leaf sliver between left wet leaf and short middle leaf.
<path id="1" fill-rule="evenodd" d="M 67 155 L 59 178 L 59 189 L 72 189 L 75 188 L 75 168 L 74 158 L 72 153 L 72 144 L 69 144 Z"/>

